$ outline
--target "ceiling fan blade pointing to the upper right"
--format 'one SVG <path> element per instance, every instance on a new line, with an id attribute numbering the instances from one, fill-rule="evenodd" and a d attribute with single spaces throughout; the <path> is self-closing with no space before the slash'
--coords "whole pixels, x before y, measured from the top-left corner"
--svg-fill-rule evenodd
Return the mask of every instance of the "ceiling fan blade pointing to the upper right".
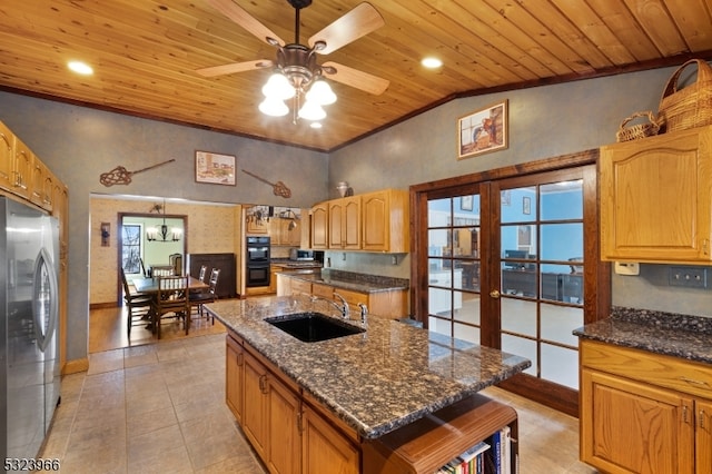
<path id="1" fill-rule="evenodd" d="M 326 46 L 315 48 L 316 52 L 328 55 L 384 24 L 386 23 L 378 10 L 364 2 L 309 38 L 309 47 L 324 42 Z"/>

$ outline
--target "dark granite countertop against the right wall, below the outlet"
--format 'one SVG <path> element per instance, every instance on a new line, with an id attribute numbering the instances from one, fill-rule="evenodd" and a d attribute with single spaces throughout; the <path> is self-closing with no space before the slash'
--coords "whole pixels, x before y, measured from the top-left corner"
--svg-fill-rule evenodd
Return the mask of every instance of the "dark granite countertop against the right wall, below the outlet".
<path id="1" fill-rule="evenodd" d="M 712 317 L 613 307 L 611 317 L 580 327 L 573 334 L 712 364 Z"/>

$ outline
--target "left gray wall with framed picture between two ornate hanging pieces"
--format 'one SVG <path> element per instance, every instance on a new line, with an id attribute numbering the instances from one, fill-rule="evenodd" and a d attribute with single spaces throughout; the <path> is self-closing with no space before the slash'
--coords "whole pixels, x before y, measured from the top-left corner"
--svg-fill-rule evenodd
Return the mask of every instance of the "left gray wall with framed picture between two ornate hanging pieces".
<path id="1" fill-rule="evenodd" d="M 87 356 L 90 194 L 309 207 L 327 189 L 326 154 L 7 92 L 0 92 L 0 120 L 69 187 L 69 361 Z M 275 196 L 270 186 L 240 171 L 237 186 L 196 182 L 196 150 L 235 155 L 238 169 L 283 180 L 291 198 Z M 119 165 L 134 171 L 170 158 L 176 161 L 134 175 L 129 185 L 99 182 Z"/>

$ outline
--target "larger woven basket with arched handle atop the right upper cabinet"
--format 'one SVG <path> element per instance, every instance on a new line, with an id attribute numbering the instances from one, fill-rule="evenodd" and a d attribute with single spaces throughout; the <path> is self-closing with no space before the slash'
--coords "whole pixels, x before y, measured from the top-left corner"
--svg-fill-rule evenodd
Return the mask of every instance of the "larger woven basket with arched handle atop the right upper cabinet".
<path id="1" fill-rule="evenodd" d="M 698 80 L 678 89 L 680 75 L 690 65 L 698 65 Z M 665 131 L 712 124 L 712 67 L 702 59 L 691 59 L 678 68 L 665 85 L 659 113 L 665 120 Z"/>

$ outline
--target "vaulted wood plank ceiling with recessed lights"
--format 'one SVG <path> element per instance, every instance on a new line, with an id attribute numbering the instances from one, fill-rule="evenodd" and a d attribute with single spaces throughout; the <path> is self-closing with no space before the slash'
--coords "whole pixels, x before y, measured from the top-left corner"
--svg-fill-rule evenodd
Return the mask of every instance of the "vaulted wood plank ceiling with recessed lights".
<path id="1" fill-rule="evenodd" d="M 235 0 L 287 42 L 286 0 Z M 300 41 L 360 3 L 314 0 Z M 196 69 L 275 59 L 206 0 L 21 0 L 0 4 L 0 88 L 333 150 L 455 97 L 711 59 L 710 0 L 378 0 L 385 27 L 326 56 L 390 81 L 380 96 L 330 81 L 324 128 L 257 110 L 269 70 Z M 436 56 L 444 66 L 419 63 Z M 91 77 L 71 73 L 79 59 Z M 662 92 L 661 85 L 661 92 Z"/>

